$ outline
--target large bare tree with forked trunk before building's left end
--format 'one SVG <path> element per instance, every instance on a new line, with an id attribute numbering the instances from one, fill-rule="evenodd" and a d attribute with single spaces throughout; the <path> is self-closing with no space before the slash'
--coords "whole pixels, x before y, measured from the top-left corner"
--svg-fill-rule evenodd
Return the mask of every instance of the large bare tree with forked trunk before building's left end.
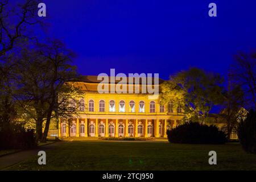
<path id="1" fill-rule="evenodd" d="M 35 49 L 24 49 L 17 62 L 14 81 L 15 103 L 36 122 L 37 138 L 46 141 L 53 117 L 76 114 L 77 107 L 69 109 L 68 100 L 80 94 L 80 88 L 65 84 L 77 77 L 72 66 L 73 53 L 60 41 L 39 44 Z M 63 104 L 67 103 L 65 107 Z M 42 132 L 43 122 L 46 121 Z"/>

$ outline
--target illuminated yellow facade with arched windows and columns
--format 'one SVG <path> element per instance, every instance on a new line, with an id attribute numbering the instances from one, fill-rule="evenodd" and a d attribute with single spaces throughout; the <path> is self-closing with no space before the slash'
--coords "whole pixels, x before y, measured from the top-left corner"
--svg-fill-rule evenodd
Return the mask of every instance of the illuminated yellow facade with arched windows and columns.
<path id="1" fill-rule="evenodd" d="M 81 86 L 84 92 L 82 99 L 85 109 L 80 112 L 79 118 L 72 118 L 71 123 L 61 121 L 61 137 L 167 137 L 167 129 L 176 127 L 184 118 L 182 111 L 178 113 L 177 108 L 170 110 L 168 105 L 164 105 L 164 110 L 160 110 L 157 95 L 100 94 L 96 89 L 97 82 L 85 80 L 75 84 Z M 100 101 L 104 102 L 101 108 Z"/>

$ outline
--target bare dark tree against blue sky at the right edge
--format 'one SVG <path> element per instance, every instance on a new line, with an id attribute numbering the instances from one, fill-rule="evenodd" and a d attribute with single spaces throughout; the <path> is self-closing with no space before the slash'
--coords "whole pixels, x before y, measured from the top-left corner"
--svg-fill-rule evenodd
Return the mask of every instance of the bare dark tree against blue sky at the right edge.
<path id="1" fill-rule="evenodd" d="M 246 54 L 240 52 L 235 56 L 234 64 L 229 73 L 232 82 L 241 86 L 245 93 L 246 109 L 256 109 L 256 52 Z"/>

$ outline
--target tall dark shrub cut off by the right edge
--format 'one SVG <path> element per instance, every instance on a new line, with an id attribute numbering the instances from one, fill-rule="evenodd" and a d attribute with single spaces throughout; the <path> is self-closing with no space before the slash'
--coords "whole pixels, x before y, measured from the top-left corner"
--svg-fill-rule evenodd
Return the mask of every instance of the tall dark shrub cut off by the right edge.
<path id="1" fill-rule="evenodd" d="M 246 119 L 239 123 L 237 131 L 243 150 L 256 154 L 256 111 L 249 111 Z"/>

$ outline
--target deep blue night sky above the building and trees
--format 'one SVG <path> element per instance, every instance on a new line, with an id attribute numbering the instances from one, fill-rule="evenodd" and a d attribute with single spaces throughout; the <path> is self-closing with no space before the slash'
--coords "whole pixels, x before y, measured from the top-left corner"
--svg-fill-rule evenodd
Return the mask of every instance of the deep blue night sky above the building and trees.
<path id="1" fill-rule="evenodd" d="M 48 34 L 76 52 L 82 75 L 189 67 L 226 75 L 237 51 L 256 47 L 256 1 L 42 1 Z M 217 17 L 208 16 L 210 2 Z"/>

